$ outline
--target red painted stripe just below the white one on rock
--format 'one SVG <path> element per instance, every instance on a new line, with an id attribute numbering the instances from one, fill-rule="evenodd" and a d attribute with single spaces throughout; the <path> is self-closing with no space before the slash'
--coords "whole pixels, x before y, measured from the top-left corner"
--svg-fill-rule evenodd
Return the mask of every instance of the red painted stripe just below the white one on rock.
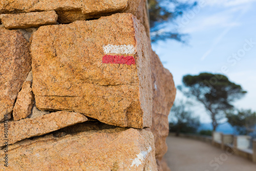
<path id="1" fill-rule="evenodd" d="M 104 55 L 102 63 L 119 63 L 131 66 L 135 65 L 135 59 L 133 56 Z"/>

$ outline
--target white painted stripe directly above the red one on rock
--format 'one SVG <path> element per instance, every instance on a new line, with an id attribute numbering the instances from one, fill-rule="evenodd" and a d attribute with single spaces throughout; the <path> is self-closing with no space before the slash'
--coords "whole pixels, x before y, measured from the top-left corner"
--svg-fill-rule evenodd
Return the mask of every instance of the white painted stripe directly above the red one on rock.
<path id="1" fill-rule="evenodd" d="M 103 46 L 105 54 L 135 54 L 133 45 L 106 45 Z"/>

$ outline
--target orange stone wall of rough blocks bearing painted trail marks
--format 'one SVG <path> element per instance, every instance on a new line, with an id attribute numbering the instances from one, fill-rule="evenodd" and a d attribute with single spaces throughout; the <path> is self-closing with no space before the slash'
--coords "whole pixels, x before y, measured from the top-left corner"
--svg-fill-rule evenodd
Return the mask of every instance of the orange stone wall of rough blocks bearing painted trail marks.
<path id="1" fill-rule="evenodd" d="M 146 0 L 0 0 L 0 22 L 0 170 L 169 170 Z"/>

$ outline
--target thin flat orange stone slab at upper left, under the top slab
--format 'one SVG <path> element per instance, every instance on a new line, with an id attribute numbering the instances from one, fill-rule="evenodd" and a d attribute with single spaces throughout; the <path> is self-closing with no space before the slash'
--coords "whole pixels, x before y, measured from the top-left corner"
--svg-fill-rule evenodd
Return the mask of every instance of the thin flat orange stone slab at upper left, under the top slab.
<path id="1" fill-rule="evenodd" d="M 30 12 L 21 14 L 2 14 L 2 24 L 7 29 L 27 29 L 44 25 L 57 24 L 55 11 Z"/>

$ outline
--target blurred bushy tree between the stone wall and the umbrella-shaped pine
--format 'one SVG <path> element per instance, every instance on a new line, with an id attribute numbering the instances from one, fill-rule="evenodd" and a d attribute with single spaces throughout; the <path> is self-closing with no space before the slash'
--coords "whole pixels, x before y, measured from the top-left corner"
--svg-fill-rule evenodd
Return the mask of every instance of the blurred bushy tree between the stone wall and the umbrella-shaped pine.
<path id="1" fill-rule="evenodd" d="M 180 133 L 196 133 L 200 126 L 199 117 L 195 117 L 189 110 L 190 103 L 176 100 L 169 114 L 170 132 L 175 132 L 176 136 Z"/>

